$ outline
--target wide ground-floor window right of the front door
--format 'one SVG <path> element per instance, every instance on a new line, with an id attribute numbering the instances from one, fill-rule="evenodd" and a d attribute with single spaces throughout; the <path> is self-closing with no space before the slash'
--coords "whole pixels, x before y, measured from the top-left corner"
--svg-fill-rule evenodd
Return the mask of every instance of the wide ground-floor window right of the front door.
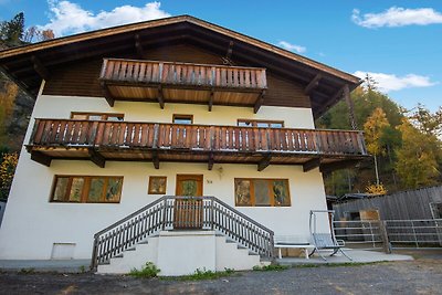
<path id="1" fill-rule="evenodd" d="M 235 206 L 290 207 L 287 179 L 235 178 Z"/>

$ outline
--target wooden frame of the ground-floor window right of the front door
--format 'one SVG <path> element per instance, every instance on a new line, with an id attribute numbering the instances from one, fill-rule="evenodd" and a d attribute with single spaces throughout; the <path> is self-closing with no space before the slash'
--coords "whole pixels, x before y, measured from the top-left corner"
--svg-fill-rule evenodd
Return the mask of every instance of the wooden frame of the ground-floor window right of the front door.
<path id="1" fill-rule="evenodd" d="M 248 180 L 250 181 L 250 204 L 239 204 L 236 202 L 236 181 L 238 180 Z M 265 180 L 267 181 L 267 188 L 269 191 L 273 189 L 273 182 L 274 181 L 285 181 L 287 185 L 287 198 L 288 198 L 288 203 L 287 204 L 275 204 L 275 198 L 270 198 L 270 204 L 256 204 L 256 196 L 255 196 L 255 188 L 254 188 L 254 180 Z M 234 198 L 234 203 L 235 207 L 257 207 L 257 208 L 280 208 L 280 207 L 292 207 L 292 194 L 290 190 L 290 181 L 287 178 L 250 178 L 250 177 L 239 177 L 233 179 L 233 198 Z"/>

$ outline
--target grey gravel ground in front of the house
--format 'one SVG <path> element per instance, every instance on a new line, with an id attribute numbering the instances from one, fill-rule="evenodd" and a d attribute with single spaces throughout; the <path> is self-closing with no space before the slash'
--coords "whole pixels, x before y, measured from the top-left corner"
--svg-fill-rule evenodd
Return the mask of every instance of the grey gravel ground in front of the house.
<path id="1" fill-rule="evenodd" d="M 238 272 L 209 281 L 3 272 L 0 294 L 442 294 L 442 253 L 365 265 Z"/>

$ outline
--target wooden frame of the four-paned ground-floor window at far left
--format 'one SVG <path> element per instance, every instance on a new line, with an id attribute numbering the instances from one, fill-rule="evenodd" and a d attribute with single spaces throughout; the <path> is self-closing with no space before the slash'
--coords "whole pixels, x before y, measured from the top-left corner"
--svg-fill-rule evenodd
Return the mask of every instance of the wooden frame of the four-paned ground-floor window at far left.
<path id="1" fill-rule="evenodd" d="M 66 189 L 65 189 L 65 192 L 64 192 L 63 200 L 54 200 L 56 185 L 57 185 L 57 180 L 60 178 L 67 178 L 67 185 L 66 185 Z M 81 194 L 80 201 L 71 201 L 70 200 L 72 182 L 73 182 L 74 178 L 83 178 L 84 179 L 83 180 L 84 183 L 83 183 L 82 194 Z M 103 187 L 102 196 L 99 198 L 99 201 L 90 201 L 88 200 L 88 196 L 90 196 L 90 192 L 91 192 L 91 180 L 92 179 L 101 179 L 101 178 L 104 178 L 106 181 L 105 181 L 105 185 Z M 119 179 L 122 181 L 120 191 L 118 193 L 118 199 L 115 200 L 115 201 L 106 201 L 105 200 L 105 198 L 106 198 L 105 196 L 106 196 L 106 191 L 107 191 L 107 188 L 108 188 L 109 179 Z M 52 181 L 50 202 L 52 202 L 52 203 L 119 203 L 120 200 L 122 200 L 122 194 L 123 194 L 123 185 L 124 185 L 124 177 L 123 176 L 55 175 L 54 179 Z"/>

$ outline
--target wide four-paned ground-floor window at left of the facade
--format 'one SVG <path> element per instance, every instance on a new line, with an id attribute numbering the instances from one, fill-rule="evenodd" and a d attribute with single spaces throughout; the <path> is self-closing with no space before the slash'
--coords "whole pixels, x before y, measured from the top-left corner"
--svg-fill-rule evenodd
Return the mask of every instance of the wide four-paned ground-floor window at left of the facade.
<path id="1" fill-rule="evenodd" d="M 52 202 L 118 203 L 123 177 L 56 176 Z"/>

